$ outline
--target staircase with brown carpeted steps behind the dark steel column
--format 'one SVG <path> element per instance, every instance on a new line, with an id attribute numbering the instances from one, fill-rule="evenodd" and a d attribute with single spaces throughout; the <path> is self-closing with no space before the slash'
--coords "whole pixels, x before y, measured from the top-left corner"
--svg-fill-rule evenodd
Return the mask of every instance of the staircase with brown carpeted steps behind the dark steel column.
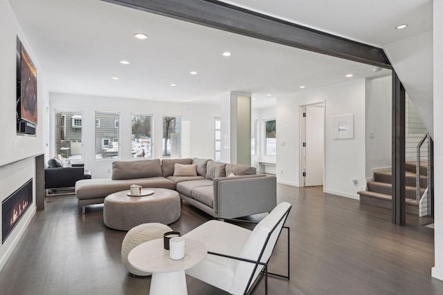
<path id="1" fill-rule="evenodd" d="M 416 176 L 417 170 L 415 162 L 406 162 L 405 173 L 405 193 L 406 193 L 406 213 L 419 215 L 419 203 L 416 200 Z M 420 164 L 420 196 L 428 184 L 427 164 Z M 392 209 L 392 171 L 374 172 L 374 181 L 367 183 L 366 191 L 358 191 L 362 204 L 371 204 L 378 207 Z"/>

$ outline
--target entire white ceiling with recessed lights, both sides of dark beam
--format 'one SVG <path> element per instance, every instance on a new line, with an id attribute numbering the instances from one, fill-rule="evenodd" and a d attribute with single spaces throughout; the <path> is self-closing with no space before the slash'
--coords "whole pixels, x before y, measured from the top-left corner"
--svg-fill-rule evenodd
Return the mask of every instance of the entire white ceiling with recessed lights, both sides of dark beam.
<path id="1" fill-rule="evenodd" d="M 54 93 L 219 104 L 239 91 L 264 107 L 281 95 L 389 73 L 99 0 L 9 2 Z M 425 0 L 229 2 L 377 46 L 432 29 Z M 395 30 L 400 23 L 410 26 Z M 136 32 L 149 38 L 134 39 Z M 226 50 L 233 55 L 222 57 Z"/>

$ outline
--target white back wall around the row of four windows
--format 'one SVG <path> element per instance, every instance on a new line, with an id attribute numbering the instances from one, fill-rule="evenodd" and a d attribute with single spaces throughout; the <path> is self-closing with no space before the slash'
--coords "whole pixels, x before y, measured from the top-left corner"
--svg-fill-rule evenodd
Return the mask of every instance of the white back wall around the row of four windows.
<path id="1" fill-rule="evenodd" d="M 83 162 L 93 178 L 110 178 L 114 160 L 96 160 L 95 115 L 96 111 L 120 113 L 120 160 L 131 158 L 131 114 L 152 114 L 153 158 L 162 158 L 163 116 L 181 116 L 182 122 L 190 122 L 190 157 L 214 157 L 214 117 L 219 117 L 219 108 L 213 105 L 153 102 L 141 99 L 94 97 L 51 93 L 51 118 L 55 110 L 82 111 Z M 55 155 L 54 120 L 51 120 L 51 155 Z M 90 126 L 90 127 L 88 127 Z M 108 172 L 109 171 L 109 172 Z"/>

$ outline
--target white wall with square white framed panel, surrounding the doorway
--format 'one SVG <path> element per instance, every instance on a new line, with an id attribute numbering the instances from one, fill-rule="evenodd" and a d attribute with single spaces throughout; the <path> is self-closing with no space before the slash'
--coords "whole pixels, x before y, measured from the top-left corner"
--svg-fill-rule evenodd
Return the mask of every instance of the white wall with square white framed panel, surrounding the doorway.
<path id="1" fill-rule="evenodd" d="M 283 171 L 278 173 L 278 182 L 299 186 L 299 110 L 300 106 L 319 102 L 325 102 L 324 190 L 358 198 L 356 192 L 365 186 L 364 79 L 277 98 L 277 171 Z M 354 138 L 333 140 L 333 117 L 347 114 L 354 114 Z M 352 178 L 357 178 L 357 186 Z"/>

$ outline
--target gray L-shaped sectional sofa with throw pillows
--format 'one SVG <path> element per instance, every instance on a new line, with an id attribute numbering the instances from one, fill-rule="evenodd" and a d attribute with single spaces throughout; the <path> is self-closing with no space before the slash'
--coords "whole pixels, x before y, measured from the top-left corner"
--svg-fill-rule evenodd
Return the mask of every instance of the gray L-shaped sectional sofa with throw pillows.
<path id="1" fill-rule="evenodd" d="M 275 176 L 257 174 L 253 166 L 199 158 L 116 161 L 111 179 L 79 180 L 75 195 L 84 213 L 84 206 L 100 204 L 131 184 L 174 189 L 215 218 L 269 212 L 277 204 Z"/>

